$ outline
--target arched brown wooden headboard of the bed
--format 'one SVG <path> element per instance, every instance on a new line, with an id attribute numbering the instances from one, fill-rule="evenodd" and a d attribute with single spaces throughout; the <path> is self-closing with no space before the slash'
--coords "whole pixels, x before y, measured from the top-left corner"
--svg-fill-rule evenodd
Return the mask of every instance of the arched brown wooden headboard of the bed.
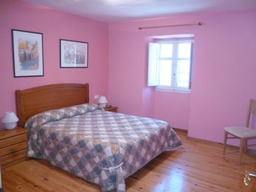
<path id="1" fill-rule="evenodd" d="M 49 84 L 16 90 L 18 125 L 24 127 L 26 121 L 38 113 L 82 103 L 89 103 L 88 83 Z"/>

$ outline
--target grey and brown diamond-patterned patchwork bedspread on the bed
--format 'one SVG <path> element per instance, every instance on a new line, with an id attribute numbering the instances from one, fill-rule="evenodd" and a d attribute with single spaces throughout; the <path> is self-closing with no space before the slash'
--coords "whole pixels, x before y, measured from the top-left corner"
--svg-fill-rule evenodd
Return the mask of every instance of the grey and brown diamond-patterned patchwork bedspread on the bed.
<path id="1" fill-rule="evenodd" d="M 167 122 L 82 104 L 31 117 L 28 156 L 99 184 L 125 191 L 124 179 L 165 151 L 181 145 Z"/>

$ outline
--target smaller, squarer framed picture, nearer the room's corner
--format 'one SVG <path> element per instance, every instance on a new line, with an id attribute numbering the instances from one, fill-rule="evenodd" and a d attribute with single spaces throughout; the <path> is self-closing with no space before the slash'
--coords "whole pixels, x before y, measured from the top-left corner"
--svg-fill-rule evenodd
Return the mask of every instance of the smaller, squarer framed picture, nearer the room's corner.
<path id="1" fill-rule="evenodd" d="M 88 68 L 88 42 L 59 39 L 60 68 Z"/>

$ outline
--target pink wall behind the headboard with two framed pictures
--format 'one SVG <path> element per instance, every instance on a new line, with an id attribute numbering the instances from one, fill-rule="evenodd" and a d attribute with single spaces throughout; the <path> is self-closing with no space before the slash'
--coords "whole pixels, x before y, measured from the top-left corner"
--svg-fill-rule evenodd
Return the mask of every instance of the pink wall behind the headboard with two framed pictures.
<path id="1" fill-rule="evenodd" d="M 108 93 L 108 24 L 20 1 L 0 1 L 0 116 L 15 111 L 15 90 L 51 83 L 90 83 L 90 100 Z M 44 77 L 13 77 L 11 29 L 41 32 Z M 59 68 L 59 39 L 89 42 L 88 69 Z"/>

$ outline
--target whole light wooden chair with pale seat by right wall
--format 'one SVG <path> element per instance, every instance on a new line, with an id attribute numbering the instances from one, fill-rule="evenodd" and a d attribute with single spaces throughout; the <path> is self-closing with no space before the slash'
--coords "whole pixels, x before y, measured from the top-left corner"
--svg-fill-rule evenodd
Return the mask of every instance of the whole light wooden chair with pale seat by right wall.
<path id="1" fill-rule="evenodd" d="M 240 139 L 240 152 L 239 152 L 239 164 L 241 164 L 242 154 L 245 147 L 245 151 L 247 151 L 247 147 L 249 146 L 256 146 L 256 144 L 247 144 L 247 140 L 256 139 L 256 130 L 253 130 L 249 127 L 249 120 L 250 115 L 256 114 L 256 100 L 251 99 L 248 109 L 248 114 L 246 118 L 246 127 L 238 127 L 238 126 L 229 126 L 225 127 L 225 134 L 224 134 L 224 148 L 223 154 L 225 154 L 226 142 L 227 139 Z M 233 137 L 228 137 L 228 134 L 232 135 Z"/>

